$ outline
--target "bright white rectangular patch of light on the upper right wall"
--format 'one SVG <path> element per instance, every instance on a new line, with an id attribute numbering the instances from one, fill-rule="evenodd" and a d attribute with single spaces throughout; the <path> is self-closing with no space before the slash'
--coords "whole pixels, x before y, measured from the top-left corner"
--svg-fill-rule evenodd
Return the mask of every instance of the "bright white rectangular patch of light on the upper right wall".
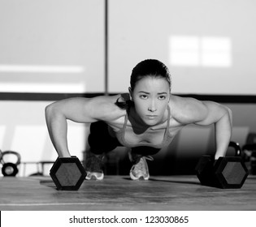
<path id="1" fill-rule="evenodd" d="M 171 36 L 171 66 L 232 66 L 232 45 L 228 37 Z"/>

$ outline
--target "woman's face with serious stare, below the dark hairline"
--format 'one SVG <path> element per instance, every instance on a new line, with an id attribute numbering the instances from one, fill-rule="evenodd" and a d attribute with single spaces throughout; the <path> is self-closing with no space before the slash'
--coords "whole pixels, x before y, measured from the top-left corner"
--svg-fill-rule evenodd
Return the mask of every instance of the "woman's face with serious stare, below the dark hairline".
<path id="1" fill-rule="evenodd" d="M 130 90 L 138 116 L 146 125 L 163 122 L 170 100 L 170 87 L 166 79 L 146 76 L 140 79 L 134 90 Z"/>

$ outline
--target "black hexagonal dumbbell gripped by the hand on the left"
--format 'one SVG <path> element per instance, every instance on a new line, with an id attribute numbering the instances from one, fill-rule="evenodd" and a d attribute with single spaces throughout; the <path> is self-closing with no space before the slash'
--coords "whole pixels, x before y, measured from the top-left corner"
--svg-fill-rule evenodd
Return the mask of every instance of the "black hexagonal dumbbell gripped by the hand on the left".
<path id="1" fill-rule="evenodd" d="M 58 157 L 50 169 L 50 177 L 58 190 L 77 191 L 84 182 L 86 173 L 76 156 Z"/>

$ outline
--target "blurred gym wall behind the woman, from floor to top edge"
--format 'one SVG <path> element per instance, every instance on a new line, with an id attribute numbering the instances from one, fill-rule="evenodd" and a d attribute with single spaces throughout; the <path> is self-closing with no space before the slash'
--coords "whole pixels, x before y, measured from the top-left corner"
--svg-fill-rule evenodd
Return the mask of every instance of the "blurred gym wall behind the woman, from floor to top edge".
<path id="1" fill-rule="evenodd" d="M 46 105 L 128 92 L 132 68 L 146 58 L 169 67 L 173 94 L 228 105 L 232 140 L 244 146 L 256 132 L 255 9 L 253 0 L 0 0 L 0 149 L 20 153 L 20 177 L 48 175 L 57 152 Z M 68 122 L 81 161 L 88 134 L 89 125 Z M 150 173 L 192 174 L 214 140 L 212 126 L 187 126 Z M 106 173 L 129 168 L 125 148 L 106 157 Z"/>

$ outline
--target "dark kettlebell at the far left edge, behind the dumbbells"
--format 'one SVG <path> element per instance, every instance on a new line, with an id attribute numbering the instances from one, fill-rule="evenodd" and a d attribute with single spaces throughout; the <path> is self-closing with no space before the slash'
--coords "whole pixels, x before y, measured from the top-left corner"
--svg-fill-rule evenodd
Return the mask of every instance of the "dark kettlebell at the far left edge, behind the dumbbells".
<path id="1" fill-rule="evenodd" d="M 3 156 L 7 155 L 15 155 L 17 161 L 15 163 L 5 162 Z M 2 163 L 2 175 L 5 177 L 15 177 L 19 172 L 18 165 L 20 165 L 20 154 L 13 151 L 0 152 L 0 162 Z"/>

